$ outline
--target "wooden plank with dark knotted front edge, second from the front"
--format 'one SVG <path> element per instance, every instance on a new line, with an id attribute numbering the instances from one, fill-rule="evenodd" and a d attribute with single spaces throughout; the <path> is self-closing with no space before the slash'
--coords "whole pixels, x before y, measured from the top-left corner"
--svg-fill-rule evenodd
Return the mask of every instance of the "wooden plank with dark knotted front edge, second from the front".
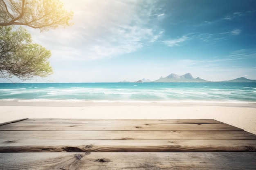
<path id="1" fill-rule="evenodd" d="M 255 140 L 0 140 L 0 152 L 220 152 L 256 151 Z"/>

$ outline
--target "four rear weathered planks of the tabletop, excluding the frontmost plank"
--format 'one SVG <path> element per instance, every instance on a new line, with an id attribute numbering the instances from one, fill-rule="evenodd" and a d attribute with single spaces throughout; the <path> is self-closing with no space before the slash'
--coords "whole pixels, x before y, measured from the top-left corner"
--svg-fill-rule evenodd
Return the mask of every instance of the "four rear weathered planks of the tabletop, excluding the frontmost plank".
<path id="1" fill-rule="evenodd" d="M 256 135 L 208 119 L 26 119 L 0 126 L 0 152 L 180 151 L 256 151 Z"/>

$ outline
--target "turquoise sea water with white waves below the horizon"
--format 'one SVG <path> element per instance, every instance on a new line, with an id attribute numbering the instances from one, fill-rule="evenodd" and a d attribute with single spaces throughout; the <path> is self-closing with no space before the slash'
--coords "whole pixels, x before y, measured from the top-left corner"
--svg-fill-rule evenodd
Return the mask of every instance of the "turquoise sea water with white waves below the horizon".
<path id="1" fill-rule="evenodd" d="M 2 83 L 0 101 L 256 103 L 256 83 Z"/>

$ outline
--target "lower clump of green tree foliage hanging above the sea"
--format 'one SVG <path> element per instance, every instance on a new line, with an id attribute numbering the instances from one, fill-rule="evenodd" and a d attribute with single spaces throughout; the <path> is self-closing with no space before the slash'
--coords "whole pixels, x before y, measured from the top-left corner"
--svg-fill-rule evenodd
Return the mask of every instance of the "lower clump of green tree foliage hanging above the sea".
<path id="1" fill-rule="evenodd" d="M 53 73 L 49 57 L 51 52 L 33 44 L 31 35 L 22 27 L 12 31 L 11 26 L 0 26 L 0 78 L 46 77 Z"/>

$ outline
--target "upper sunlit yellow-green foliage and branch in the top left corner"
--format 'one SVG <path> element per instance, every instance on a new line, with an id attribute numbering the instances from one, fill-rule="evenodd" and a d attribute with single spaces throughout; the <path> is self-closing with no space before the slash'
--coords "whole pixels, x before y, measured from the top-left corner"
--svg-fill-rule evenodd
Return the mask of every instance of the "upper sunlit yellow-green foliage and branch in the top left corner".
<path id="1" fill-rule="evenodd" d="M 72 12 L 59 0 L 0 0 L 0 25 L 25 25 L 43 30 L 70 26 Z"/>

